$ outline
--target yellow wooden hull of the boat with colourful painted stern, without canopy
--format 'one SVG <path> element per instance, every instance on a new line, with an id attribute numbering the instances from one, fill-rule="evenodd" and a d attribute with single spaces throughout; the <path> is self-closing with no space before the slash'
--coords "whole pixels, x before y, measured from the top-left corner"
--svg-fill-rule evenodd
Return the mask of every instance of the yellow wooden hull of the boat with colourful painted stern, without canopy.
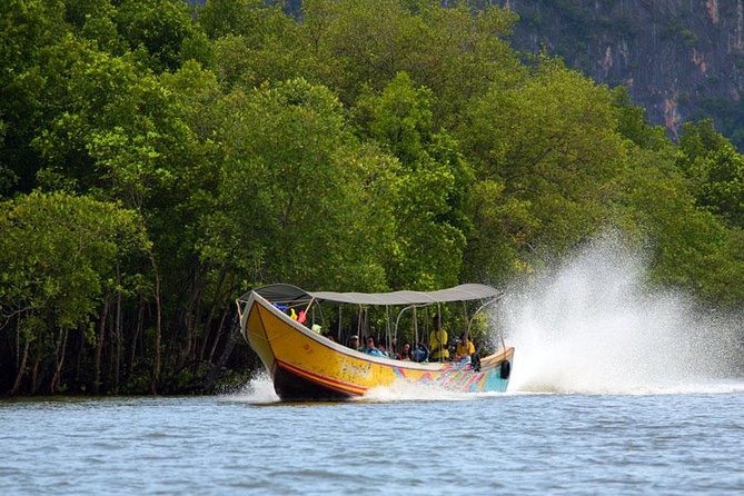
<path id="1" fill-rule="evenodd" d="M 334 399 L 364 396 L 397 380 L 438 384 L 457 391 L 504 391 L 514 348 L 480 360 L 480 366 L 454 363 L 400 361 L 366 355 L 334 343 L 252 294 L 242 308 L 241 330 L 274 380 L 281 399 Z"/>

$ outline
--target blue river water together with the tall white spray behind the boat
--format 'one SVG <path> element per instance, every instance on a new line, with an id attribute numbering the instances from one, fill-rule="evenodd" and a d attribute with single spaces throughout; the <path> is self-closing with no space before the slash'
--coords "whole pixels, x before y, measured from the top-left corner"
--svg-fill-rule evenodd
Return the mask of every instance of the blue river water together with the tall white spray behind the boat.
<path id="1" fill-rule="evenodd" d="M 505 394 L 282 404 L 259 376 L 210 397 L 0 401 L 0 490 L 744 494 L 742 319 L 647 294 L 634 260 L 605 244 L 512 288 Z"/>

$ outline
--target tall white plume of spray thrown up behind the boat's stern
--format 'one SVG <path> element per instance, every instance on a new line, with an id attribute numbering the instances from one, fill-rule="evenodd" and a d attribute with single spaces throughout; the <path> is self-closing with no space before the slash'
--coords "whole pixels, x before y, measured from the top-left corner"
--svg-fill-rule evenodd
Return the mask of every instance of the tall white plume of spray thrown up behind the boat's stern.
<path id="1" fill-rule="evenodd" d="M 509 390 L 744 390 L 721 380 L 741 356 L 740 321 L 702 313 L 678 292 L 649 292 L 645 281 L 643 256 L 607 235 L 512 288 L 497 316 L 517 350 Z"/>

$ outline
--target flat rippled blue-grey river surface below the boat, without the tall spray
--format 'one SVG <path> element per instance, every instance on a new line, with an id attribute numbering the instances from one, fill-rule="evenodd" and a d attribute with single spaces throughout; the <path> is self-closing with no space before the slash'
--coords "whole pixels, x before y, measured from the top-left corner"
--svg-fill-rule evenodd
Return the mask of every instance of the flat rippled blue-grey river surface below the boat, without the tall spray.
<path id="1" fill-rule="evenodd" d="M 0 484 L 3 494 L 742 494 L 744 389 L 716 388 L 6 401 Z"/>

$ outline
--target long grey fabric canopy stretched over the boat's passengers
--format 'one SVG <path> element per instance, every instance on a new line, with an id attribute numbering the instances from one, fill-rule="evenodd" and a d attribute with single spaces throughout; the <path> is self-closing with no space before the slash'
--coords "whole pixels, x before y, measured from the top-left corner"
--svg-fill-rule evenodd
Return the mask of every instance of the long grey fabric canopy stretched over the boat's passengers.
<path id="1" fill-rule="evenodd" d="M 289 302 L 316 299 L 318 301 L 353 305 L 426 305 L 447 301 L 485 300 L 502 296 L 502 292 L 497 289 L 479 284 L 466 284 L 436 291 L 394 292 L 306 291 L 297 286 L 276 284 L 254 289 L 254 291 L 269 301 Z M 246 301 L 251 292 L 248 291 L 239 300 Z"/>

